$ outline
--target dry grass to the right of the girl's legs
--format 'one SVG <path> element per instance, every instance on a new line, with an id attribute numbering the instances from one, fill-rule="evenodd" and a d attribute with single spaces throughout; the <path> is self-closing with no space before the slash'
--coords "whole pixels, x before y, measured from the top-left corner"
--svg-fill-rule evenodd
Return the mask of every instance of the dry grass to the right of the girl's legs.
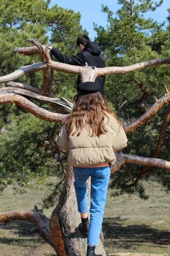
<path id="1" fill-rule="evenodd" d="M 145 186 L 147 201 L 108 196 L 103 220 L 108 253 L 170 253 L 170 196 L 159 183 Z"/>

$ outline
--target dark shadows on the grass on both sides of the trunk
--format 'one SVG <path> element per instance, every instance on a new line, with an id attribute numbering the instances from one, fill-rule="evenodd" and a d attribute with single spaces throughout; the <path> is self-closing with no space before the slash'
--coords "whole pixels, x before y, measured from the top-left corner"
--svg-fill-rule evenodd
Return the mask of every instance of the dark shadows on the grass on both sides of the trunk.
<path id="1" fill-rule="evenodd" d="M 169 230 L 158 230 L 150 227 L 147 224 L 140 225 L 125 225 L 127 219 L 122 218 L 104 218 L 103 219 L 103 232 L 105 240 L 109 240 L 115 245 L 119 246 L 122 242 L 124 248 L 128 248 L 129 244 L 142 244 L 152 243 L 157 245 L 168 245 L 170 244 L 170 231 Z M 0 237 L 0 243 L 3 244 L 20 244 L 25 245 L 34 240 L 34 242 L 43 243 L 43 239 L 39 239 L 39 235 L 30 235 L 30 230 L 34 228 L 34 224 L 27 221 L 13 221 L 4 226 L 0 223 L 0 232 L 5 232 Z M 16 237 L 7 236 L 9 234 L 17 234 Z M 78 230 L 72 233 L 75 238 L 81 237 L 82 234 Z M 22 238 L 22 239 L 21 239 Z M 28 243 L 27 243 L 28 241 Z M 44 241 L 45 242 L 45 241 Z"/>

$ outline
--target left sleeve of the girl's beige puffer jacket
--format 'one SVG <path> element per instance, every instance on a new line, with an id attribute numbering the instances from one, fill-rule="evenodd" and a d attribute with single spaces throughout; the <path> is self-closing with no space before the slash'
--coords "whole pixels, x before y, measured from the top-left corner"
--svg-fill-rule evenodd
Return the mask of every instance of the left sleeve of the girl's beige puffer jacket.
<path id="1" fill-rule="evenodd" d="M 69 140 L 67 135 L 67 130 L 65 128 L 65 125 L 59 130 L 59 136 L 57 140 L 57 145 L 60 149 L 69 151 Z"/>

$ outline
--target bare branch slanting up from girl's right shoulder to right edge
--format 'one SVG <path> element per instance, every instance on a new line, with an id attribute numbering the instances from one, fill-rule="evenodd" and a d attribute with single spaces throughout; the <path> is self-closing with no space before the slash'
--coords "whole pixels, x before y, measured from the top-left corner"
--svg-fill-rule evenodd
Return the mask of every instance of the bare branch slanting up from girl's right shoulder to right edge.
<path id="1" fill-rule="evenodd" d="M 170 93 L 165 94 L 163 97 L 158 99 L 153 106 L 146 111 L 142 116 L 140 116 L 135 121 L 131 122 L 128 125 L 125 125 L 125 133 L 128 134 L 130 131 L 136 130 L 140 125 L 143 125 L 145 122 L 150 121 L 150 118 L 157 112 L 161 107 L 167 105 L 170 101 Z"/>

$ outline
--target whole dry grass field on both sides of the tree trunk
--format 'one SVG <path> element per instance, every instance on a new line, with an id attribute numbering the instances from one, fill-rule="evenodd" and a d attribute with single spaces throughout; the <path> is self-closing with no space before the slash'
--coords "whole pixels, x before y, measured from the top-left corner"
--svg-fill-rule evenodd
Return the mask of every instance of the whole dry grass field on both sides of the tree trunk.
<path id="1" fill-rule="evenodd" d="M 145 183 L 149 200 L 136 195 L 108 199 L 105 207 L 103 230 L 107 253 L 170 253 L 170 195 L 159 183 Z M 8 187 L 0 195 L 0 212 L 14 209 L 41 208 L 46 189 L 28 189 L 28 193 L 14 194 Z M 53 209 L 45 210 L 50 217 Z M 53 248 L 39 235 L 30 235 L 34 224 L 14 221 L 0 224 L 0 256 L 54 256 Z"/>

